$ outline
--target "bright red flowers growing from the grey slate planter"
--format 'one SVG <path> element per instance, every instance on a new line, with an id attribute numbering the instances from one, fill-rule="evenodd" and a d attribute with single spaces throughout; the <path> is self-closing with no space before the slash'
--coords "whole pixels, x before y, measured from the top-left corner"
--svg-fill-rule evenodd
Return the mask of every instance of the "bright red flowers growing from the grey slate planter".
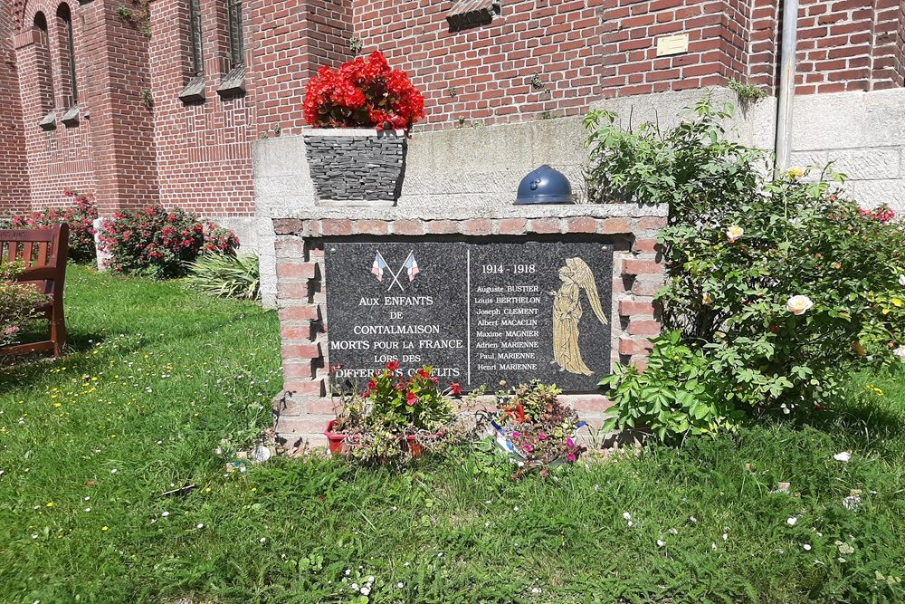
<path id="1" fill-rule="evenodd" d="M 303 111 L 318 128 L 411 129 L 424 118 L 424 98 L 405 72 L 375 52 L 338 70 L 321 67 L 308 81 Z"/>

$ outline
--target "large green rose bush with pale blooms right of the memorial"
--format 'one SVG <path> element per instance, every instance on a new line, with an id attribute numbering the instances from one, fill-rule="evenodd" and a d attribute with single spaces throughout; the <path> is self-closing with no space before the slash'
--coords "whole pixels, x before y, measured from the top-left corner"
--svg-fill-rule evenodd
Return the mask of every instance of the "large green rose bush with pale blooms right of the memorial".
<path id="1" fill-rule="evenodd" d="M 728 398 L 786 413 L 830 405 L 846 372 L 895 361 L 905 340 L 905 229 L 846 198 L 828 169 L 763 177 L 763 154 L 727 139 L 730 115 L 705 99 L 661 133 L 592 112 L 595 199 L 670 205 L 663 323 L 700 350 L 707 388 L 725 380 Z"/>

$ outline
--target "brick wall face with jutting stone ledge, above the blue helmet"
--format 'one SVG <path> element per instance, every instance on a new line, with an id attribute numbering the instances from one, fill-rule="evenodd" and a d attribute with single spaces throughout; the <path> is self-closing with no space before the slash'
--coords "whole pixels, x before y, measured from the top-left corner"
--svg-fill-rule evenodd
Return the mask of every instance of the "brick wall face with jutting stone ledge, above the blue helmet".
<path id="1" fill-rule="evenodd" d="M 355 0 L 354 34 L 424 93 L 424 129 L 581 113 L 599 98 L 604 0 L 504 1 L 492 24 L 451 33 L 452 3 Z M 538 74 L 540 87 L 532 85 Z M 452 92 L 454 91 L 454 95 Z"/>

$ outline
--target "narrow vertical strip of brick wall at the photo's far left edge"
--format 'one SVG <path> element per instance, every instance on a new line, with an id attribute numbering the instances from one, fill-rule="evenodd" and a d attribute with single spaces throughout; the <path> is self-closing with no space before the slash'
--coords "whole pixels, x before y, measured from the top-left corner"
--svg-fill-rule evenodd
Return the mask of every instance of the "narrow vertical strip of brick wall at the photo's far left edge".
<path id="1" fill-rule="evenodd" d="M 9 8 L 0 3 L 0 216 L 31 205 L 19 74 L 13 49 L 14 22 Z"/>

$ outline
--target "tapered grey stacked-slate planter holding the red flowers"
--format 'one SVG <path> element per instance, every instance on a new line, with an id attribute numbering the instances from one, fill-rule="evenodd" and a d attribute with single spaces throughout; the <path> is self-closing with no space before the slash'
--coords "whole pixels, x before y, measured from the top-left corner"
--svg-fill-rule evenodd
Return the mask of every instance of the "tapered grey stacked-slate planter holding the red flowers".
<path id="1" fill-rule="evenodd" d="M 303 137 L 319 205 L 395 205 L 405 176 L 404 130 L 310 129 Z"/>

